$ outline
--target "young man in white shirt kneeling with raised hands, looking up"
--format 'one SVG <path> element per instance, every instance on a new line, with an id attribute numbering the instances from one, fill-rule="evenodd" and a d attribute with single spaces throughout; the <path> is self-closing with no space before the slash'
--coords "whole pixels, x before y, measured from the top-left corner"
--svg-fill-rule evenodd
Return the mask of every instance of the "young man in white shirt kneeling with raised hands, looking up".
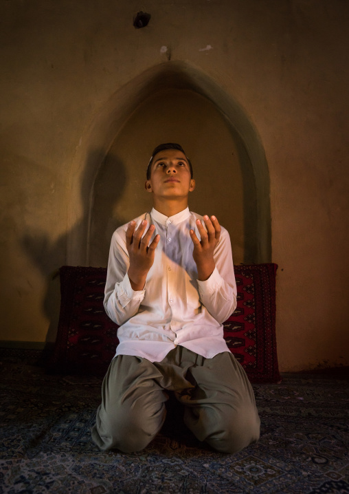
<path id="1" fill-rule="evenodd" d="M 196 438 L 235 453 L 256 442 L 260 419 L 245 371 L 223 339 L 236 308 L 229 234 L 188 209 L 192 164 L 179 144 L 153 151 L 146 190 L 153 209 L 113 234 L 104 308 L 120 325 L 102 385 L 93 441 L 144 449 L 166 416 L 166 391 Z"/>

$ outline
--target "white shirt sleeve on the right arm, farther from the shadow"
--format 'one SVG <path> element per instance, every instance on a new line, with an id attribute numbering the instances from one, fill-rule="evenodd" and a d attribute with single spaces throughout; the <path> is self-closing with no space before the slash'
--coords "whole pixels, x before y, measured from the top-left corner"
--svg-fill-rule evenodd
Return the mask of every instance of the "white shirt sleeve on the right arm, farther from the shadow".
<path id="1" fill-rule="evenodd" d="M 229 233 L 221 230 L 221 237 L 214 250 L 216 267 L 210 278 L 198 280 L 201 302 L 210 314 L 223 323 L 236 309 L 236 281 Z"/>

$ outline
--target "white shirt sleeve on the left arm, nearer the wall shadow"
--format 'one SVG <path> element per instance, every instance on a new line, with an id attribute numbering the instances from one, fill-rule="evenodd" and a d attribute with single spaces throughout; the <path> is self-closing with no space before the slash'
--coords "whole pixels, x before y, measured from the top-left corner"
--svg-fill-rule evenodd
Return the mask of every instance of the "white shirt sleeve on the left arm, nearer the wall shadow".
<path id="1" fill-rule="evenodd" d="M 122 325 L 137 313 L 145 294 L 145 290 L 132 289 L 127 274 L 129 266 L 126 236 L 121 227 L 111 238 L 104 290 L 104 309 L 110 319 L 118 325 Z"/>

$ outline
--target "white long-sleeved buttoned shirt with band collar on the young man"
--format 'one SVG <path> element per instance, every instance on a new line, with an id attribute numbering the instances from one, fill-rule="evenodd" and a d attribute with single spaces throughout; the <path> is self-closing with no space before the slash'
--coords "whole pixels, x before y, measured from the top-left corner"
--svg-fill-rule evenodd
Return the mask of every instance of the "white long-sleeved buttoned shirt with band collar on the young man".
<path id="1" fill-rule="evenodd" d="M 189 230 L 200 239 L 196 219 L 188 208 L 166 217 L 154 208 L 135 219 L 155 225 L 160 235 L 155 260 L 144 290 L 131 288 L 127 271 L 126 229 L 113 233 L 109 253 L 104 308 L 118 325 L 116 355 L 135 355 L 160 362 L 182 345 L 205 358 L 229 351 L 223 339 L 223 322 L 236 308 L 236 282 L 229 233 L 221 227 L 214 250 L 216 268 L 205 281 L 197 279 Z"/>

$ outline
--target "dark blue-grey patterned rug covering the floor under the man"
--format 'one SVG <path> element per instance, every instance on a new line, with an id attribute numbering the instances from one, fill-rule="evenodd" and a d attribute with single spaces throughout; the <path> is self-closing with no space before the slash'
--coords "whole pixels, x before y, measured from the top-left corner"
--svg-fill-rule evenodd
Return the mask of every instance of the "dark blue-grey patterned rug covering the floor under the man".
<path id="1" fill-rule="evenodd" d="M 193 438 L 174 403 L 144 451 L 102 453 L 90 438 L 101 379 L 45 374 L 38 354 L 0 354 L 0 493 L 349 493 L 343 376 L 254 385 L 260 441 L 236 455 Z"/>

